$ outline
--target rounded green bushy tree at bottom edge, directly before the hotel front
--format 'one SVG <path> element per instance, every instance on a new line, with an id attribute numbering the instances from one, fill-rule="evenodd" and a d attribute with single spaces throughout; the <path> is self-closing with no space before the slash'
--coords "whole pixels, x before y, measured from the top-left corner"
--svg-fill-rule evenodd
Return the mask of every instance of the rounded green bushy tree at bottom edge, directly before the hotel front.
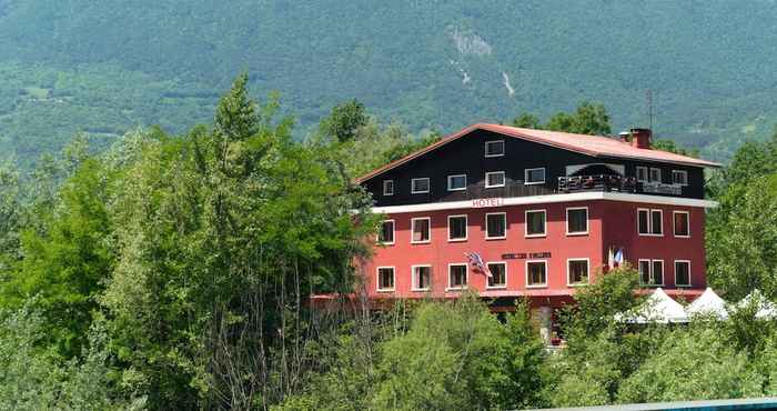
<path id="1" fill-rule="evenodd" d="M 427 303 L 384 344 L 377 409 L 514 409 L 536 404 L 543 343 L 525 305 L 502 324 L 475 295 Z"/>

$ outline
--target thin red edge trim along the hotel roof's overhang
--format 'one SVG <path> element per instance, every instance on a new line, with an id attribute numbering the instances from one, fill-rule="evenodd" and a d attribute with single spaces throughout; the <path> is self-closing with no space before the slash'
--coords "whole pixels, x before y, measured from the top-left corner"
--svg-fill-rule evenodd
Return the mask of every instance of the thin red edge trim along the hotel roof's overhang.
<path id="1" fill-rule="evenodd" d="M 535 143 L 538 143 L 538 144 L 553 147 L 553 148 L 556 148 L 556 149 L 559 149 L 559 150 L 566 150 L 566 151 L 572 151 L 572 152 L 577 152 L 577 153 L 591 156 L 591 157 L 598 158 L 598 159 L 643 160 L 643 161 L 650 161 L 650 162 L 658 162 L 658 163 L 679 164 L 679 166 L 698 167 L 698 168 L 720 168 L 720 167 L 722 167 L 720 164 L 718 164 L 718 163 L 716 163 L 716 162 L 706 161 L 706 160 L 697 160 L 698 163 L 694 163 L 694 162 L 685 162 L 685 161 L 679 161 L 679 160 L 677 160 L 677 161 L 672 161 L 672 160 L 660 160 L 660 159 L 646 159 L 646 158 L 643 158 L 643 157 L 639 157 L 639 156 L 627 156 L 627 154 L 624 154 L 624 156 L 612 156 L 612 154 L 604 154 L 604 153 L 599 153 L 599 152 L 594 151 L 594 150 L 585 150 L 585 149 L 582 149 L 582 148 L 571 148 L 571 147 L 568 147 L 568 146 L 563 146 L 563 144 L 553 143 L 553 142 L 545 141 L 545 140 L 542 140 L 542 139 L 537 139 L 537 138 L 535 138 L 535 137 L 527 136 L 527 134 L 521 133 L 521 132 L 505 133 L 503 130 L 496 129 L 496 124 L 475 123 L 475 124 L 465 127 L 464 129 L 462 129 L 462 130 L 460 130 L 460 131 L 457 131 L 457 132 L 455 132 L 455 133 L 453 133 L 453 134 L 448 134 L 448 136 L 442 138 L 440 141 L 434 142 L 434 143 L 432 143 L 432 144 L 430 144 L 430 146 L 427 146 L 427 147 L 425 147 L 425 148 L 423 148 L 423 149 L 420 149 L 420 150 L 417 150 L 417 151 L 415 151 L 415 152 L 412 152 L 412 153 L 410 153 L 410 154 L 407 154 L 407 156 L 405 156 L 405 157 L 403 157 L 403 158 L 401 158 L 401 159 L 398 159 L 398 160 L 394 160 L 394 161 L 392 161 L 392 162 L 390 162 L 390 163 L 387 163 L 387 164 L 385 164 L 385 166 L 382 166 L 382 167 L 380 167 L 380 168 L 377 168 L 377 169 L 375 169 L 375 170 L 373 170 L 373 171 L 371 171 L 371 172 L 369 172 L 369 173 L 366 173 L 366 174 L 364 174 L 364 176 L 362 176 L 362 177 L 359 177 L 359 178 L 355 179 L 355 182 L 359 183 L 359 184 L 361 184 L 361 183 L 363 183 L 363 182 L 365 182 L 365 181 L 367 181 L 367 180 L 371 180 L 371 179 L 374 178 L 374 177 L 377 177 L 377 176 L 380 176 L 380 174 L 382 174 L 382 173 L 384 173 L 384 172 L 386 172 L 386 171 L 393 170 L 393 169 L 395 169 L 395 168 L 397 168 L 397 167 L 400 167 L 400 166 L 402 166 L 402 164 L 404 164 L 404 163 L 406 163 L 406 162 L 410 162 L 411 160 L 414 160 L 414 159 L 416 159 L 416 158 L 420 158 L 420 157 L 426 154 L 427 152 L 434 151 L 434 150 L 438 149 L 440 147 L 443 147 L 443 146 L 447 144 L 448 142 L 458 140 L 460 138 L 462 138 L 462 137 L 464 137 L 464 136 L 467 136 L 467 134 L 470 134 L 470 133 L 472 133 L 472 132 L 474 132 L 474 131 L 477 131 L 477 130 L 491 131 L 491 132 L 495 132 L 495 133 L 498 133 L 498 134 L 508 136 L 508 137 L 513 137 L 513 138 L 518 138 L 518 139 L 523 139 L 523 140 L 526 140 L 526 141 L 535 142 Z M 656 150 L 656 151 L 658 151 L 658 150 Z"/>

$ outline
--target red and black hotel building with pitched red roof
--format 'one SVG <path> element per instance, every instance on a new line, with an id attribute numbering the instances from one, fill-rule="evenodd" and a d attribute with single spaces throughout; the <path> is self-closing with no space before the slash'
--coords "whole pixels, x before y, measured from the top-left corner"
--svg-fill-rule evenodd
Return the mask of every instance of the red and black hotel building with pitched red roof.
<path id="1" fill-rule="evenodd" d="M 644 129 L 622 139 L 471 126 L 359 179 L 385 214 L 363 267 L 369 294 L 468 288 L 497 305 L 528 297 L 555 308 L 620 249 L 645 285 L 693 300 L 706 287 L 705 209 L 716 206 L 704 199 L 706 167 L 718 164 L 652 150 Z"/>

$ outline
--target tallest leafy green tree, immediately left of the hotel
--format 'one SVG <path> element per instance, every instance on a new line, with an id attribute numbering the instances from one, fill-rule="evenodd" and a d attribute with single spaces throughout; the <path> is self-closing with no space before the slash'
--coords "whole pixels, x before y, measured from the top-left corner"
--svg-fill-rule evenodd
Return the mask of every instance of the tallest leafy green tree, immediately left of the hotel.
<path id="1" fill-rule="evenodd" d="M 158 136 L 122 171 L 118 262 L 101 301 L 151 408 L 268 407 L 296 392 L 306 299 L 352 290 L 374 229 L 331 161 L 235 81 L 213 128 Z M 355 212 L 354 212 L 355 210 Z"/>

